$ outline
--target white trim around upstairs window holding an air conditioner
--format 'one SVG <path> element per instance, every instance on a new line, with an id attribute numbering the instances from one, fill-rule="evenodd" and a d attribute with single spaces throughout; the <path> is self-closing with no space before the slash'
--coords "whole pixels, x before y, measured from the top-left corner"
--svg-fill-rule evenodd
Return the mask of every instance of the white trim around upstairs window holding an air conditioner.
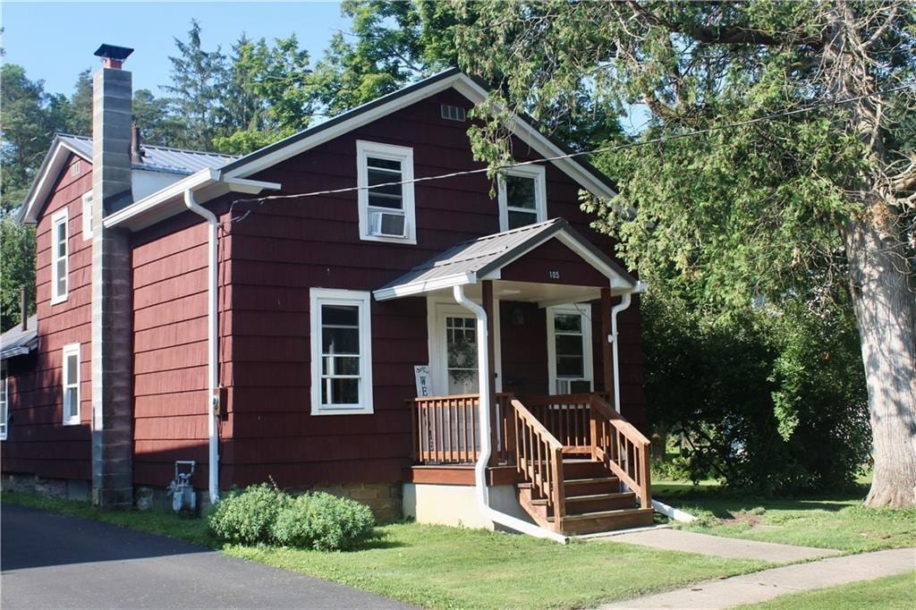
<path id="1" fill-rule="evenodd" d="M 369 173 L 368 157 L 387 158 L 400 161 L 402 185 L 402 202 L 404 205 L 404 236 L 390 237 L 369 234 Z M 389 244 L 417 243 L 417 222 L 413 193 L 413 148 L 397 147 L 391 144 L 356 140 L 356 185 L 359 187 L 359 238 L 369 242 L 387 242 Z"/>

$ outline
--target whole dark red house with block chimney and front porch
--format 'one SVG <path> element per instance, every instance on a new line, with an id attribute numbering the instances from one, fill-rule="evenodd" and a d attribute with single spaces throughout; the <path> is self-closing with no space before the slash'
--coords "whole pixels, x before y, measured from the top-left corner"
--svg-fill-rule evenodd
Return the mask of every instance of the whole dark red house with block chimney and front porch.
<path id="1" fill-rule="evenodd" d="M 495 198 L 482 173 L 412 181 L 483 167 L 487 92 L 456 70 L 242 158 L 149 147 L 129 49 L 99 53 L 93 139 L 55 138 L 20 213 L 38 320 L 0 346 L 5 485 L 118 507 L 194 460 L 211 497 L 270 477 L 382 518 L 403 499 L 532 533 L 651 522 L 623 419 L 642 422 L 640 288 L 578 202 L 612 197 L 604 176 L 540 160 L 564 151 L 518 117 Z"/>

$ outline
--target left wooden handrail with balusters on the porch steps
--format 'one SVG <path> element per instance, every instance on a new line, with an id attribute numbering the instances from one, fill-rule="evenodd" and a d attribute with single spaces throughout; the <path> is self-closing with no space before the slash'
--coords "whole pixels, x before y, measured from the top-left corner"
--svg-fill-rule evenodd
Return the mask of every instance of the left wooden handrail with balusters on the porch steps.
<path id="1" fill-rule="evenodd" d="M 513 412 L 518 474 L 547 498 L 548 506 L 553 507 L 554 527 L 561 531 L 562 518 L 566 515 L 563 444 L 517 398 L 509 404 Z"/>

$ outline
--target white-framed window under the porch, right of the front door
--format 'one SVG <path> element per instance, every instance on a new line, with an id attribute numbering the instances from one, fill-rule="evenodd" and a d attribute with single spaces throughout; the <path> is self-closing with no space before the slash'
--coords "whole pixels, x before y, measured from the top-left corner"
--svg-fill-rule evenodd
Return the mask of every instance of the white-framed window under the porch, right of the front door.
<path id="1" fill-rule="evenodd" d="M 547 351 L 554 394 L 592 391 L 590 310 L 588 305 L 564 305 L 548 310 Z"/>

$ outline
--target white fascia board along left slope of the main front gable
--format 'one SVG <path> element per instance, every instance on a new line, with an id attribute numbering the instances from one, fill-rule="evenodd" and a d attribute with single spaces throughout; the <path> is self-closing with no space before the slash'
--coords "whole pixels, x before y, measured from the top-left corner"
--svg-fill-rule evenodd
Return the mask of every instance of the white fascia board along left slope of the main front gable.
<path id="1" fill-rule="evenodd" d="M 298 142 L 292 142 L 287 147 L 278 148 L 278 150 L 275 150 L 269 155 L 265 155 L 262 158 L 256 158 L 251 163 L 245 163 L 245 165 L 226 172 L 225 177 L 237 178 L 256 174 L 262 169 L 267 169 L 281 161 L 295 157 L 296 155 L 299 155 L 300 153 L 303 153 L 310 148 L 317 147 L 324 144 L 325 142 L 333 140 L 335 137 L 343 136 L 344 134 L 353 131 L 357 127 L 372 123 L 373 121 L 376 121 L 377 119 L 387 114 L 391 114 L 400 110 L 401 108 L 409 106 L 410 104 L 420 102 L 420 100 L 430 97 L 431 95 L 445 91 L 446 89 L 453 87 L 455 82 L 462 76 L 462 74 L 456 74 L 452 78 L 433 82 L 428 87 L 423 87 L 422 89 L 418 89 L 415 92 L 399 96 L 388 103 L 383 103 L 379 106 L 376 106 L 375 108 L 372 108 L 371 110 L 367 110 L 362 113 L 359 112 L 359 107 L 356 107 L 354 110 L 350 111 L 355 113 L 354 117 L 350 120 L 344 121 L 339 125 L 334 125 L 328 129 L 322 129 L 322 131 L 319 131 L 314 136 L 303 138 Z"/>

